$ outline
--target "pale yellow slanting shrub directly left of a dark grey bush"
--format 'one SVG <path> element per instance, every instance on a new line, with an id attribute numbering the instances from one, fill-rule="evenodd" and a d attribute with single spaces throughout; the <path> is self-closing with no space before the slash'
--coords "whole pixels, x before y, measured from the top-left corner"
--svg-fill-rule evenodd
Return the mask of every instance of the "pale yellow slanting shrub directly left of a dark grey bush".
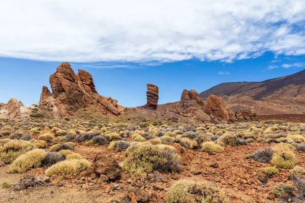
<path id="1" fill-rule="evenodd" d="M 41 165 L 47 153 L 42 149 L 34 149 L 20 155 L 10 166 L 11 173 L 23 173 L 29 168 L 37 168 Z"/>

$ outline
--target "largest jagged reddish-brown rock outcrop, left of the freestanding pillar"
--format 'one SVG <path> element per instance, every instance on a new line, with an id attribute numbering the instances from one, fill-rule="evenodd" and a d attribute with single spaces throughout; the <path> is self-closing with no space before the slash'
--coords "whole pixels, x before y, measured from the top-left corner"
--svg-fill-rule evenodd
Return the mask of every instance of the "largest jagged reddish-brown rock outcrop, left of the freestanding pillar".
<path id="1" fill-rule="evenodd" d="M 76 112 L 84 109 L 94 116 L 118 116 L 124 108 L 117 100 L 98 94 L 92 75 L 83 70 L 75 74 L 68 62 L 60 64 L 50 76 L 52 93 L 43 87 L 40 106 L 59 117 L 77 116 Z"/>

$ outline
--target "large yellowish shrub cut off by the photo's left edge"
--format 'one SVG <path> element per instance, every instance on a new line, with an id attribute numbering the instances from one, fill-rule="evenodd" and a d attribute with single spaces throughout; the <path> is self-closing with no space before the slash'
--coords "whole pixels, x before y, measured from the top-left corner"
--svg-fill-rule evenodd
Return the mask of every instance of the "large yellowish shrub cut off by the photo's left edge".
<path id="1" fill-rule="evenodd" d="M 0 145 L 1 146 L 1 145 Z M 28 141 L 8 140 L 0 147 L 0 160 L 5 163 L 13 162 L 18 156 L 35 148 L 35 145 Z"/>

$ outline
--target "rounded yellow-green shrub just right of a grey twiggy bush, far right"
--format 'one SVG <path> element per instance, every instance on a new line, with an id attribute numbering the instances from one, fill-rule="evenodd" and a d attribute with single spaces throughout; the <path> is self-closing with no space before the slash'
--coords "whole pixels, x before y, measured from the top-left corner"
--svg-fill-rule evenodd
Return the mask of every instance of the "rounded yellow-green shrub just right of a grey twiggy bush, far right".
<path id="1" fill-rule="evenodd" d="M 282 168 L 293 168 L 297 163 L 297 158 L 291 151 L 282 151 L 272 155 L 271 163 Z"/>

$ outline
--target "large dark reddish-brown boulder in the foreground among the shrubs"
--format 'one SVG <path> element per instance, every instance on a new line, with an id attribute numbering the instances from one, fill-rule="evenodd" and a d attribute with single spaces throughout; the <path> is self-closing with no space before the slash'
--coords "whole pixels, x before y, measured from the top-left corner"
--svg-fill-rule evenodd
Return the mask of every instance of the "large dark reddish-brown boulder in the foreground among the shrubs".
<path id="1" fill-rule="evenodd" d="M 95 173 L 105 175 L 109 180 L 117 180 L 122 172 L 121 166 L 118 165 L 114 158 L 102 154 L 95 157 L 93 167 Z"/>

